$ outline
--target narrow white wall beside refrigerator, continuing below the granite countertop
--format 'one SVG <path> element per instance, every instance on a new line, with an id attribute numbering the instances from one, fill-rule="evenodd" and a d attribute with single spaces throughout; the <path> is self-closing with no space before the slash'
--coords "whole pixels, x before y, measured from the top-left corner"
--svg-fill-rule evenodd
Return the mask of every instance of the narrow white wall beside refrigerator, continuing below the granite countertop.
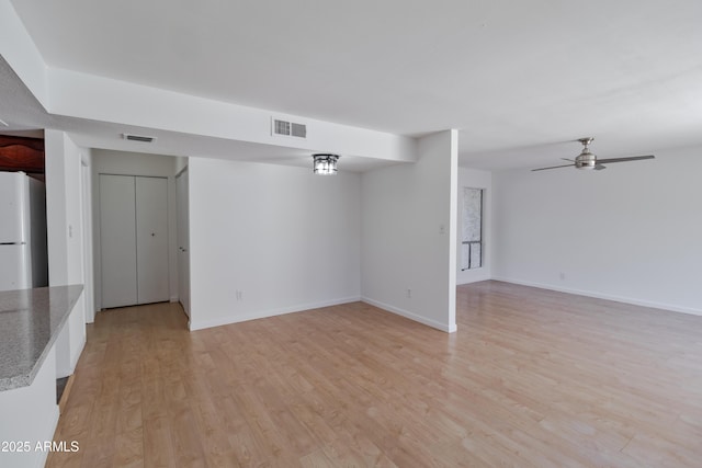
<path id="1" fill-rule="evenodd" d="M 46 152 L 46 230 L 49 286 L 88 284 L 84 273 L 87 244 L 83 238 L 82 155 L 63 132 L 44 133 Z M 89 158 L 88 158 L 89 159 Z M 86 301 L 78 300 L 71 324 L 56 340 L 56 372 L 71 375 L 86 343 Z"/>

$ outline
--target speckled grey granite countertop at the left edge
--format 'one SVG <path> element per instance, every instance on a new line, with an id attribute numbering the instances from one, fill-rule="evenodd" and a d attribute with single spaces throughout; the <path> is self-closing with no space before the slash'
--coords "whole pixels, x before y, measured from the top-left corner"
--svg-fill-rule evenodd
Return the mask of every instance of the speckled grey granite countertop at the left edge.
<path id="1" fill-rule="evenodd" d="M 0 292 L 0 391 L 32 384 L 82 285 Z"/>

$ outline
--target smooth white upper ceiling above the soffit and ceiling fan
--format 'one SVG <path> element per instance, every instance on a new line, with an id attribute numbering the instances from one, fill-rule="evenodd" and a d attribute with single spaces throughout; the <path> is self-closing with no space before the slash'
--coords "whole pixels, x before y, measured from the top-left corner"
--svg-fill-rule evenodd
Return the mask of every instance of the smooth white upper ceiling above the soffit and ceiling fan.
<path id="1" fill-rule="evenodd" d="M 12 3 L 48 66 L 401 135 L 458 128 L 463 165 L 557 163 L 584 136 L 600 157 L 702 144 L 699 0 Z"/>

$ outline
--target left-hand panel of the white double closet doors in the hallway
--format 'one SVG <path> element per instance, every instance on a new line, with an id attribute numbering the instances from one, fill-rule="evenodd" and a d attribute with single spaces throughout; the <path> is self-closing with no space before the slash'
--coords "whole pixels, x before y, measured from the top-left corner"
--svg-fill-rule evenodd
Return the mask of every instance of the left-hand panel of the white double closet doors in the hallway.
<path id="1" fill-rule="evenodd" d="M 137 304 L 135 178 L 100 174 L 102 307 Z"/>

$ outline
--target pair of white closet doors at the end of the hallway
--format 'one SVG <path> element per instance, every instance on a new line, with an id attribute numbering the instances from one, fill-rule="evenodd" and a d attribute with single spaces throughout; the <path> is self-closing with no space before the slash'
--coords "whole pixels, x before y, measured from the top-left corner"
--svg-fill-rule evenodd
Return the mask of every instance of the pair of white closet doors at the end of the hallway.
<path id="1" fill-rule="evenodd" d="M 168 179 L 100 174 L 102 307 L 169 299 Z"/>

